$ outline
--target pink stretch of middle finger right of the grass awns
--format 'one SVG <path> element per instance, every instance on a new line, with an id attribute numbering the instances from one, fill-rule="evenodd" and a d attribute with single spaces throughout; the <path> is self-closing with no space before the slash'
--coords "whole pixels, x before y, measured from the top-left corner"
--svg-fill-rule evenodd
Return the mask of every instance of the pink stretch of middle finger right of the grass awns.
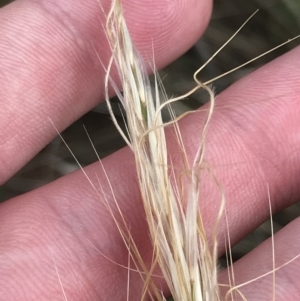
<path id="1" fill-rule="evenodd" d="M 218 98 L 207 160 L 225 188 L 233 242 L 269 218 L 268 185 L 274 212 L 298 200 L 300 73 L 294 62 L 299 53 L 300 47 Z"/>

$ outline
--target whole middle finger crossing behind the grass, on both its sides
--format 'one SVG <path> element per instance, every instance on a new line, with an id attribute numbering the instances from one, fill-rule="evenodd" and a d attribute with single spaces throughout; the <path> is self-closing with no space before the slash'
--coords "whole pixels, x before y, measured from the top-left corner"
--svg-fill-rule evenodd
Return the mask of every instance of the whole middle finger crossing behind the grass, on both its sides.
<path id="1" fill-rule="evenodd" d="M 218 98 L 219 109 L 207 137 L 206 160 L 225 189 L 233 243 L 269 216 L 267 184 L 275 211 L 299 197 L 299 52 L 297 48 L 261 68 Z M 206 112 L 200 112 L 180 124 L 190 158 L 199 145 L 205 117 Z M 170 150 L 177 147 L 172 137 L 168 138 Z M 178 154 L 172 154 L 172 162 L 179 159 Z M 130 225 L 130 234 L 143 258 L 150 262 L 151 243 L 145 230 L 132 154 L 122 149 L 103 164 Z M 104 195 L 115 208 L 99 164 L 90 166 L 86 172 L 100 192 L 98 183 L 101 183 Z M 220 195 L 209 177 L 205 178 L 205 174 L 203 177 L 200 207 L 209 230 L 215 221 Z M 80 300 L 87 292 L 92 300 L 115 295 L 120 296 L 119 300 L 126 298 L 127 271 L 111 261 L 126 266 L 128 250 L 99 196 L 84 179 L 77 172 L 2 206 L 0 249 L 6 257 L 1 262 L 5 273 L 0 281 L 7 288 L 8 297 L 43 292 L 50 298 L 61 293 L 56 266 L 72 300 Z M 118 218 L 116 209 L 114 212 Z M 227 228 L 224 224 L 220 227 L 219 243 L 224 249 Z M 20 252 L 22 261 L 16 256 Z M 32 274 L 24 280 L 24 271 L 30 267 Z M 130 276 L 129 299 L 137 300 L 141 281 L 135 272 Z M 50 288 L 43 286 L 44 279 L 50 281 Z M 12 292 L 15 287 L 12 281 L 22 282 L 22 290 Z"/>

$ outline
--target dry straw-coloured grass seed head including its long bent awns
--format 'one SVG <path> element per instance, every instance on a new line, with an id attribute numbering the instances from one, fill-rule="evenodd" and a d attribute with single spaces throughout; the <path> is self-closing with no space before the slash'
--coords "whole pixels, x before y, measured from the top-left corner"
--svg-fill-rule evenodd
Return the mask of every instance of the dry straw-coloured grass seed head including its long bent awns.
<path id="1" fill-rule="evenodd" d="M 242 24 L 228 42 L 232 40 L 254 14 Z M 162 101 L 160 99 L 161 93 L 159 93 L 161 82 L 159 82 L 158 76 L 155 76 L 155 89 L 154 93 L 152 93 L 146 72 L 147 68 L 131 41 L 120 0 L 112 1 L 111 10 L 107 15 L 106 33 L 112 51 L 112 57 L 107 67 L 105 80 L 106 101 L 113 122 L 135 156 L 136 172 L 142 202 L 154 250 L 151 266 L 149 267 L 143 262 L 142 256 L 135 242 L 132 241 L 130 233 L 126 233 L 126 225 L 124 231 L 120 229 L 126 246 L 129 248 L 133 263 L 137 269 L 141 269 L 140 275 L 144 281 L 144 289 L 140 300 L 149 297 L 151 300 L 154 300 L 154 298 L 155 300 L 166 300 L 160 288 L 156 287 L 152 281 L 153 271 L 158 263 L 174 301 L 219 301 L 221 297 L 219 293 L 220 284 L 217 280 L 217 234 L 218 225 L 225 211 L 225 198 L 221 184 L 214 177 L 208 164 L 204 160 L 206 135 L 215 103 L 215 96 L 209 84 L 293 39 L 282 43 L 219 77 L 201 83 L 197 78 L 198 73 L 228 44 L 228 42 L 226 42 L 207 63 L 195 72 L 195 87 L 191 91 L 181 97 Z M 297 36 L 294 39 L 299 37 L 300 36 Z M 117 89 L 109 75 L 113 65 L 116 66 L 119 72 L 122 93 Z M 122 132 L 121 127 L 117 123 L 117 119 L 113 115 L 108 96 L 109 85 L 115 89 L 117 96 L 124 106 L 128 133 Z M 184 139 L 181 136 L 178 121 L 186 114 L 194 113 L 195 111 L 187 112 L 180 117 L 176 117 L 170 105 L 173 102 L 186 98 L 198 89 L 204 89 L 208 93 L 210 106 L 208 109 L 205 109 L 207 117 L 200 133 L 199 147 L 194 158 L 191 160 L 186 154 L 183 143 Z M 172 117 L 172 120 L 167 123 L 163 123 L 161 114 L 162 109 L 165 107 L 169 108 L 170 116 Z M 167 148 L 165 137 L 165 128 L 167 126 L 173 127 L 175 137 L 177 138 L 177 151 L 181 154 L 181 166 L 183 166 L 179 174 L 172 165 L 173 162 L 170 159 L 171 151 Z M 129 139 L 127 138 L 127 134 L 129 134 Z M 172 152 L 173 151 L 174 150 L 172 150 Z M 207 236 L 207 230 L 199 209 L 203 170 L 208 172 L 220 191 L 220 207 L 213 229 L 210 232 L 210 237 Z M 224 296 L 225 300 L 234 300 L 236 297 L 246 300 L 239 289 L 271 273 L 273 274 L 274 290 L 275 271 L 294 261 L 300 255 L 281 267 L 275 268 L 273 242 L 272 271 L 243 284 L 236 285 L 226 214 L 225 224 L 227 225 L 228 233 L 228 265 L 230 266 L 230 269 L 228 269 L 229 284 L 225 285 L 228 287 L 227 293 Z M 273 299 L 274 298 L 275 291 L 273 291 Z"/>

